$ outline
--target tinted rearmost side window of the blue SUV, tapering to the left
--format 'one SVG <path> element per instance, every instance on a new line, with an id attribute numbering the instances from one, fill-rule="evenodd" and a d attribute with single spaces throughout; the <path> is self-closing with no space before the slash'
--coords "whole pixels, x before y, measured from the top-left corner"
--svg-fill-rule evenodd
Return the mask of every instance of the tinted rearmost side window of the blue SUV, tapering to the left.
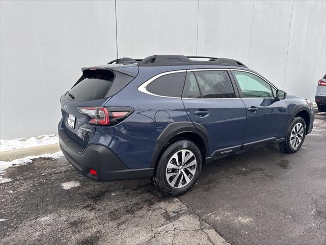
<path id="1" fill-rule="evenodd" d="M 167 96 L 181 97 L 185 79 L 185 72 L 177 72 L 163 75 L 146 86 L 146 90 L 150 93 Z"/>

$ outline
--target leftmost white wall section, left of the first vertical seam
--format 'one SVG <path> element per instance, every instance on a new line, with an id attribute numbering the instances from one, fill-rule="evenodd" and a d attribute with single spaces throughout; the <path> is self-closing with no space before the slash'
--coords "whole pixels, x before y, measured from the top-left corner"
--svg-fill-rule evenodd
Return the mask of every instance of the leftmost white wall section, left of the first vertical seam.
<path id="1" fill-rule="evenodd" d="M 116 57 L 114 2 L 1 1 L 0 137 L 56 133 L 80 68 Z"/>

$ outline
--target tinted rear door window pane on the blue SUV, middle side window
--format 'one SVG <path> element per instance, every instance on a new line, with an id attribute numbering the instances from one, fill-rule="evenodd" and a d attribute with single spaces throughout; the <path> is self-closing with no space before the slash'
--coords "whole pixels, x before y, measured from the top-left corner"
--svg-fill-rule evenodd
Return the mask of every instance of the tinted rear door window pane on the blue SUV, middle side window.
<path id="1" fill-rule="evenodd" d="M 235 98 L 226 70 L 195 71 L 194 74 L 203 99 Z"/>

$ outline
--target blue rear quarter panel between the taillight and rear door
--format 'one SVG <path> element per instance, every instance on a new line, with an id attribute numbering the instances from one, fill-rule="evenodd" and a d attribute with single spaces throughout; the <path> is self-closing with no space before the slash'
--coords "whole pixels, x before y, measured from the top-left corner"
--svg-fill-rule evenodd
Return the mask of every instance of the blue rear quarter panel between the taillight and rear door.
<path id="1" fill-rule="evenodd" d="M 94 142 L 107 146 L 129 168 L 150 167 L 156 140 L 171 122 L 190 121 L 181 99 L 153 96 L 138 87 L 160 73 L 147 68 L 105 106 L 130 106 L 134 112 L 114 127 L 97 126 Z M 164 72 L 164 71 L 161 71 Z"/>

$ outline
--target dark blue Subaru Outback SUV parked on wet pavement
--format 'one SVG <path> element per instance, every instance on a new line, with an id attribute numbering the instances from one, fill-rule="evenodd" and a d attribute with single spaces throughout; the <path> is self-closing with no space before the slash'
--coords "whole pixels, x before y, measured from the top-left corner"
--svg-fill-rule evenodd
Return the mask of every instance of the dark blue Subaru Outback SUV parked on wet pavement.
<path id="1" fill-rule="evenodd" d="M 152 177 L 180 195 L 202 164 L 267 143 L 294 153 L 313 127 L 310 101 L 232 59 L 154 55 L 82 70 L 60 100 L 60 147 L 96 181 Z"/>

